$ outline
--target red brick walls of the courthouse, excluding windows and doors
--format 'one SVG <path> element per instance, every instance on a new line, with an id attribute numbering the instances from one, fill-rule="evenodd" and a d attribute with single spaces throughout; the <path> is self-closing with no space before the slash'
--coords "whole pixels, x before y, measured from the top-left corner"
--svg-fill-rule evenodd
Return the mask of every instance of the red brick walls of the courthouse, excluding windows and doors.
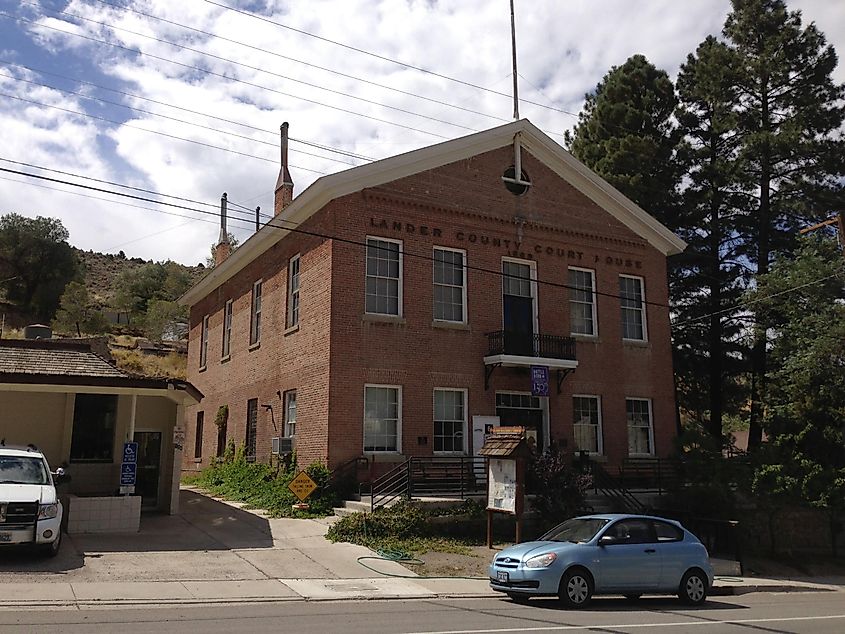
<path id="1" fill-rule="evenodd" d="M 432 326 L 430 258 L 435 245 L 464 249 L 468 266 L 495 272 L 501 271 L 503 256 L 515 253 L 536 262 L 541 281 L 560 285 L 568 282 L 568 266 L 594 269 L 597 290 L 607 294 L 598 297 L 599 335 L 578 341 L 579 365 L 564 380 L 562 394 L 552 387 L 551 436 L 572 448 L 572 394 L 599 395 L 605 454 L 611 463 L 619 462 L 627 456 L 625 397 L 650 398 L 656 453 L 669 453 L 675 407 L 664 307 L 665 257 L 525 151 L 523 166 L 533 186 L 523 196 L 512 195 L 501 182 L 511 163 L 512 150 L 503 148 L 334 200 L 304 228 L 342 240 L 290 234 L 192 307 L 188 367 L 189 380 L 206 395 L 201 405 L 206 411 L 203 464 L 215 451 L 217 407 L 229 404 L 230 437 L 242 442 L 248 398 L 272 403 L 281 428 L 277 390 L 297 389 L 300 463 L 321 459 L 331 465 L 361 454 L 366 383 L 403 386 L 405 456 L 432 451 L 435 387 L 468 390 L 467 444 L 472 416 L 495 414 L 496 390 L 530 390 L 527 371 L 508 368 L 497 369 L 489 389 L 484 389 L 485 333 L 502 328 L 499 275 L 468 270 L 467 327 Z M 519 247 L 514 244 L 514 216 L 525 219 Z M 382 220 L 386 227 L 374 226 Z M 394 228 L 394 222 L 401 226 Z M 362 245 L 367 235 L 403 241 L 401 321 L 384 323 L 364 314 Z M 500 241 L 499 246 L 493 239 Z M 284 335 L 287 261 L 297 252 L 302 253 L 300 329 Z M 642 276 L 646 300 L 654 303 L 647 308 L 645 344 L 622 342 L 620 273 Z M 259 277 L 264 279 L 262 341 L 258 350 L 248 351 L 251 289 Z M 222 309 L 230 297 L 235 298 L 232 356 L 221 364 Z M 541 333 L 569 335 L 566 288 L 539 284 L 537 306 Z M 198 372 L 199 329 L 207 313 L 211 315 L 208 368 Z M 189 412 L 188 448 L 193 447 L 195 420 Z M 269 415 L 259 409 L 259 458 L 267 458 L 272 435 Z M 420 436 L 427 437 L 427 445 L 417 444 Z M 186 467 L 192 466 L 192 457 L 186 456 Z"/>

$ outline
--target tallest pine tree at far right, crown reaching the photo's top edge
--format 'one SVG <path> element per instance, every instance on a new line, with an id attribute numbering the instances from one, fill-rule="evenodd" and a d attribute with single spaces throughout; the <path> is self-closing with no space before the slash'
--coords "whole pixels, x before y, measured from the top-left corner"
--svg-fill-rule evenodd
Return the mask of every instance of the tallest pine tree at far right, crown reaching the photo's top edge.
<path id="1" fill-rule="evenodd" d="M 732 0 L 725 22 L 739 58 L 737 96 L 742 158 L 756 186 L 739 254 L 758 275 L 790 252 L 797 230 L 828 215 L 845 171 L 839 132 L 843 87 L 834 83 L 836 53 L 814 24 L 781 0 Z M 758 318 L 751 351 L 749 448 L 759 445 L 766 386 L 767 324 Z"/>

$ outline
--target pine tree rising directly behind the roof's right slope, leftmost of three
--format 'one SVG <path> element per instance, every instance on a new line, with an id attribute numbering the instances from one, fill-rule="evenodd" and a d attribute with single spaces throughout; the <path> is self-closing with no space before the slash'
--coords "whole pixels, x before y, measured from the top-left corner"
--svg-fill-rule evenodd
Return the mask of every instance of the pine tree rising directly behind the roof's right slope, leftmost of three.
<path id="1" fill-rule="evenodd" d="M 679 173 L 672 81 L 644 56 L 613 67 L 565 135 L 578 160 L 673 228 Z"/>

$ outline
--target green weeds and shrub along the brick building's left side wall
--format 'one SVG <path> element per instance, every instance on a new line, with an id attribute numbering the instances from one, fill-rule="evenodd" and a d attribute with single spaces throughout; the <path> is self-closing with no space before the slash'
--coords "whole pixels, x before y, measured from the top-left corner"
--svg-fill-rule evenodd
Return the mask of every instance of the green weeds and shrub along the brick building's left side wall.
<path id="1" fill-rule="evenodd" d="M 248 508 L 262 509 L 271 517 L 331 515 L 337 496 L 329 486 L 331 472 L 319 463 L 305 468 L 305 472 L 317 484 L 317 489 L 308 498 L 310 507 L 308 510 L 292 508 L 299 500 L 288 489 L 288 484 L 298 472 L 295 459 L 288 467 L 283 464 L 247 462 L 243 446 L 236 451 L 234 443 L 230 442 L 221 461 L 197 474 L 186 475 L 182 481 L 227 500 L 243 502 Z"/>

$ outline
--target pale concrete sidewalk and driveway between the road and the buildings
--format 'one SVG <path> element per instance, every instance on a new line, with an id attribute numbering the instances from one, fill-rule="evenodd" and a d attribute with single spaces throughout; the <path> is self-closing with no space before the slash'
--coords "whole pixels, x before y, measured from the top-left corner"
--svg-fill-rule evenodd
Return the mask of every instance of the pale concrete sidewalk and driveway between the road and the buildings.
<path id="1" fill-rule="evenodd" d="M 0 610 L 208 603 L 503 597 L 487 579 L 424 578 L 333 544 L 327 520 L 270 519 L 183 490 L 175 516 L 142 517 L 131 535 L 66 535 L 58 557 L 0 557 Z M 729 568 L 717 568 L 717 572 Z M 845 591 L 814 582 L 717 576 L 711 595 Z"/>

